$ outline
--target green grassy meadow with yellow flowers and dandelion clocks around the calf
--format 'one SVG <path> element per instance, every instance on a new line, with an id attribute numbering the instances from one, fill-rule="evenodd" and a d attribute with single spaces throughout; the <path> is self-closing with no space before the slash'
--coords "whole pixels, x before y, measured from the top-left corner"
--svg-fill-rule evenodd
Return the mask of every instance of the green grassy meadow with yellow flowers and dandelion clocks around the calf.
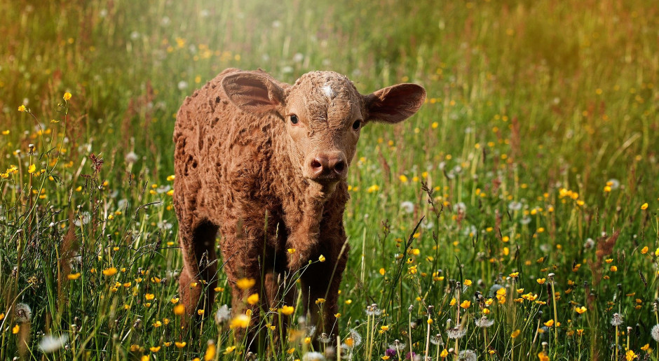
<path id="1" fill-rule="evenodd" d="M 655 1 L 12 0 L 0 34 L 0 360 L 659 360 Z M 338 341 L 298 298 L 247 355 L 223 274 L 182 327 L 175 113 L 227 67 L 428 91 L 362 131 Z"/>

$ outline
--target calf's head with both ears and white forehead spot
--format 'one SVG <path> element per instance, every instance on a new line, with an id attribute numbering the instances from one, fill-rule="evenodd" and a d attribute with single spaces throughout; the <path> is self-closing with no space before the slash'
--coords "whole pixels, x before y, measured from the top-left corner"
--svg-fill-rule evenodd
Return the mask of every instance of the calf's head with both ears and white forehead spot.
<path id="1" fill-rule="evenodd" d="M 248 113 L 274 113 L 285 122 L 287 152 L 308 180 L 333 185 L 346 178 L 362 127 L 395 124 L 426 99 L 416 84 L 398 84 L 362 95 L 345 76 L 314 71 L 282 86 L 265 73 L 244 71 L 222 80 L 233 104 Z"/>

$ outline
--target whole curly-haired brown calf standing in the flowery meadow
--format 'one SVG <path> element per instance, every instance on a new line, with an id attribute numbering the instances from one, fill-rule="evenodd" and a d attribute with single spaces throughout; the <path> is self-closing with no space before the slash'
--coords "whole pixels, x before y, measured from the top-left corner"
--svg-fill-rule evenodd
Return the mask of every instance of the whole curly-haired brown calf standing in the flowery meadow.
<path id="1" fill-rule="evenodd" d="M 226 69 L 186 98 L 174 132 L 174 206 L 184 261 L 179 292 L 186 310 L 210 309 L 219 231 L 234 313 L 249 307 L 256 325 L 259 307 L 290 305 L 292 295 L 284 291 L 295 287 L 285 283 L 301 271 L 304 314 L 319 332 L 336 334 L 348 259 L 346 174 L 361 127 L 405 120 L 425 98 L 413 84 L 364 96 L 329 71 L 288 85 L 263 71 L 238 69 Z M 320 255 L 325 262 L 308 265 Z M 256 284 L 241 290 L 240 278 Z M 245 298 L 254 293 L 261 303 L 251 306 Z M 322 320 L 313 311 L 318 298 L 326 298 Z"/>

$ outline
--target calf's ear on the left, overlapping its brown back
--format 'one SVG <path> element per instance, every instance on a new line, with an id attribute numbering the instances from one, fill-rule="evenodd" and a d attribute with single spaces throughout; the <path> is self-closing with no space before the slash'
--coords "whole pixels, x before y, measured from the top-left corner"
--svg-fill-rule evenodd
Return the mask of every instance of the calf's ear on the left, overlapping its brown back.
<path id="1" fill-rule="evenodd" d="M 222 79 L 222 88 L 229 101 L 245 112 L 277 111 L 284 103 L 284 90 L 259 73 L 233 73 Z"/>

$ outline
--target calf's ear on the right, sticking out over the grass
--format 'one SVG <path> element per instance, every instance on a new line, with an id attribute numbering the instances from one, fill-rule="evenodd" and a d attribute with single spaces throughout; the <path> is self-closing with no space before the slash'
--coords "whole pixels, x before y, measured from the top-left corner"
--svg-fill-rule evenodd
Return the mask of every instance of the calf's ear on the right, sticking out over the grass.
<path id="1" fill-rule="evenodd" d="M 395 124 L 411 117 L 426 101 L 421 85 L 398 84 L 383 88 L 364 97 L 368 120 Z"/>

